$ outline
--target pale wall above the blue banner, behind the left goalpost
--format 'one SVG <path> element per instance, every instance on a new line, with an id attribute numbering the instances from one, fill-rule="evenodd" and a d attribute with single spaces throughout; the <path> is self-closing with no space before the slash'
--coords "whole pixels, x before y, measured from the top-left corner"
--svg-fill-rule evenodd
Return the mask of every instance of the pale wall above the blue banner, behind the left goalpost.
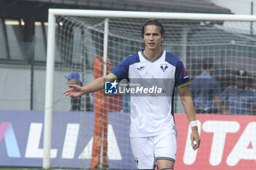
<path id="1" fill-rule="evenodd" d="M 54 73 L 53 110 L 69 110 L 70 98 L 63 94 L 67 90 L 69 72 Z M 31 71 L 29 66 L 0 66 L 0 109 L 29 110 Z M 93 74 L 86 73 L 85 84 L 93 80 Z M 45 69 L 34 70 L 34 110 L 45 109 Z"/>

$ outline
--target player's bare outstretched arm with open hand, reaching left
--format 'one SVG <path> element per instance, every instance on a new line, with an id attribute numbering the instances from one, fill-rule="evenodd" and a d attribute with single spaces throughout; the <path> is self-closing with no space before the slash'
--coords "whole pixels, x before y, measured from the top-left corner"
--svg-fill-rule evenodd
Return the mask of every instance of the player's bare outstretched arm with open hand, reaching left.
<path id="1" fill-rule="evenodd" d="M 80 87 L 79 85 L 69 85 L 69 89 L 65 90 L 63 93 L 70 97 L 78 97 L 84 94 L 93 93 L 104 88 L 105 80 L 114 81 L 115 78 L 111 74 L 108 74 L 104 77 L 97 78 L 83 87 Z"/>

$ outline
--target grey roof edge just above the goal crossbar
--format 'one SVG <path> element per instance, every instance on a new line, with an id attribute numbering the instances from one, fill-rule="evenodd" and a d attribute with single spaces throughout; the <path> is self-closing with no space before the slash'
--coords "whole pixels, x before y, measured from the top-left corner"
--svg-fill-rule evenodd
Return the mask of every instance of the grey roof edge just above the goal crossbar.
<path id="1" fill-rule="evenodd" d="M 78 9 L 113 9 L 156 12 L 195 12 L 232 14 L 230 9 L 203 0 L 18 0 L 48 5 L 71 5 Z"/>

